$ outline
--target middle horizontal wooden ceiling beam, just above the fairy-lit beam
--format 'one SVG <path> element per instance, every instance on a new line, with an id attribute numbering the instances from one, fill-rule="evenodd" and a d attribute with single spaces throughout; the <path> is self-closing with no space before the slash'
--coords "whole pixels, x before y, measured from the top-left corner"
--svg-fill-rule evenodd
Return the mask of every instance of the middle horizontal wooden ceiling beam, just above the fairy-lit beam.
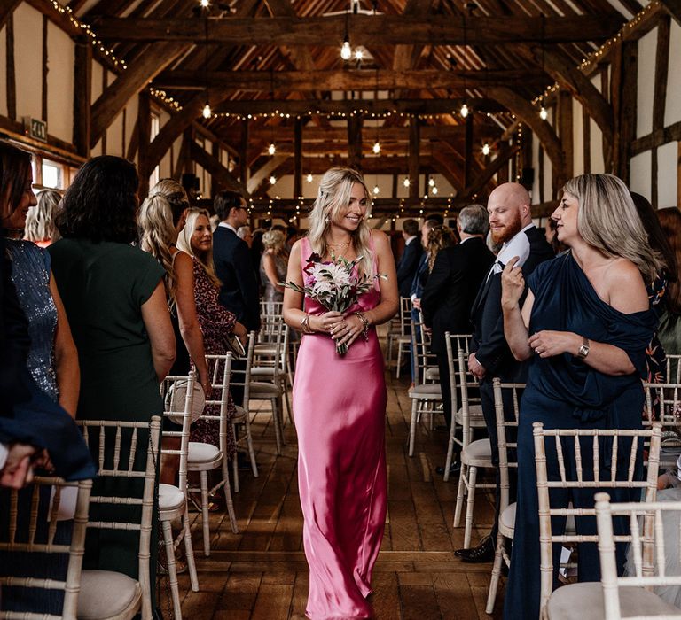
<path id="1" fill-rule="evenodd" d="M 172 45 L 172 43 L 156 43 Z M 166 64 L 167 65 L 167 64 Z M 247 91 L 305 90 L 396 90 L 396 89 L 460 89 L 481 88 L 488 84 L 542 87 L 544 73 L 531 69 L 498 69 L 490 71 L 440 71 L 411 69 L 338 69 L 331 71 L 212 71 L 173 70 L 158 72 L 154 86 L 161 89 L 204 90 L 232 89 Z"/>

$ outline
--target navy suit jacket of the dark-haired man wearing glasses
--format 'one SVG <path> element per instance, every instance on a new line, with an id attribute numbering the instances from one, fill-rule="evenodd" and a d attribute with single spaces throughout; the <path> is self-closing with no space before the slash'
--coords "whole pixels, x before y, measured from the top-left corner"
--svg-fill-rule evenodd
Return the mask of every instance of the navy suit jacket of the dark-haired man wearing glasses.
<path id="1" fill-rule="evenodd" d="M 248 331 L 260 329 L 260 297 L 248 245 L 237 234 L 218 226 L 213 235 L 215 274 L 223 283 L 219 300 Z"/>

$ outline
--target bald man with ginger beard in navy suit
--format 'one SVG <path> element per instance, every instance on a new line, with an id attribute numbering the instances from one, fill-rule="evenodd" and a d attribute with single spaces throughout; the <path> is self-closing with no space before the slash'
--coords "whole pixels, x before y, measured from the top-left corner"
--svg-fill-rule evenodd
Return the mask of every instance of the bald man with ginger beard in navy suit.
<path id="1" fill-rule="evenodd" d="M 501 310 L 501 271 L 505 263 L 519 256 L 519 265 L 526 280 L 535 267 L 553 258 L 551 245 L 546 242 L 544 231 L 532 223 L 528 191 L 519 183 L 503 183 L 489 195 L 487 203 L 489 228 L 492 240 L 503 243 L 485 282 L 475 298 L 471 320 L 474 324 L 472 351 L 468 368 L 480 380 L 482 414 L 485 417 L 489 442 L 492 446 L 492 462 L 498 465 L 497 419 L 494 408 L 492 380 L 499 377 L 503 383 L 525 383 L 528 378 L 526 363 L 515 358 L 506 344 L 504 316 Z M 513 405 L 505 403 L 507 415 L 513 415 Z M 513 478 L 513 476 L 512 476 Z M 514 501 L 515 480 L 511 481 L 511 501 Z M 492 532 L 471 549 L 456 553 L 465 562 L 491 562 L 497 539 L 499 510 L 499 478 L 497 470 L 497 502 Z"/>

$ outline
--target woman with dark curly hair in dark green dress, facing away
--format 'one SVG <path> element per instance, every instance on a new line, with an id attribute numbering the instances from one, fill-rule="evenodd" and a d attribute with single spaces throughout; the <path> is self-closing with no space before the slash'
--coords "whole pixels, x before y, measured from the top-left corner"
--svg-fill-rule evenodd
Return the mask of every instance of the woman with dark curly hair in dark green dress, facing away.
<path id="1" fill-rule="evenodd" d="M 90 159 L 64 196 L 57 221 L 63 238 L 49 248 L 81 366 L 79 420 L 148 422 L 163 411 L 159 385 L 175 359 L 175 336 L 163 268 L 130 244 L 137 239 L 138 184 L 129 161 L 113 156 Z M 146 440 L 140 436 L 138 442 Z M 90 449 L 96 448 L 91 438 Z M 145 452 L 137 450 L 141 469 Z M 126 458 L 121 454 L 122 462 Z M 113 454 L 106 459 L 113 462 Z M 92 494 L 141 494 L 142 480 L 113 482 L 96 481 Z M 134 511 L 139 509 L 121 507 L 114 516 L 107 508 L 101 520 L 138 520 Z M 91 507 L 90 519 L 99 520 L 96 513 L 97 506 Z M 156 523 L 154 518 L 154 530 Z M 136 532 L 89 531 L 84 567 L 137 578 L 138 544 Z M 156 551 L 152 545 L 152 586 Z"/>

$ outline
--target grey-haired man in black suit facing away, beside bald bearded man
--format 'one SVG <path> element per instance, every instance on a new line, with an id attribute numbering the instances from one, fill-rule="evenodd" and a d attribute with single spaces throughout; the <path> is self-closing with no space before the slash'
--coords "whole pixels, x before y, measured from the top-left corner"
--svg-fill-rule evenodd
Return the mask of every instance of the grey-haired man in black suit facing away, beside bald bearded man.
<path id="1" fill-rule="evenodd" d="M 485 244 L 487 219 L 487 210 L 482 205 L 461 210 L 457 221 L 461 243 L 438 252 L 421 297 L 423 320 L 427 328 L 433 329 L 430 349 L 437 355 L 440 368 L 442 406 L 448 428 L 451 425 L 450 369 L 444 334 L 447 331 L 469 334 L 473 330 L 471 307 L 494 262 L 494 254 Z"/>

